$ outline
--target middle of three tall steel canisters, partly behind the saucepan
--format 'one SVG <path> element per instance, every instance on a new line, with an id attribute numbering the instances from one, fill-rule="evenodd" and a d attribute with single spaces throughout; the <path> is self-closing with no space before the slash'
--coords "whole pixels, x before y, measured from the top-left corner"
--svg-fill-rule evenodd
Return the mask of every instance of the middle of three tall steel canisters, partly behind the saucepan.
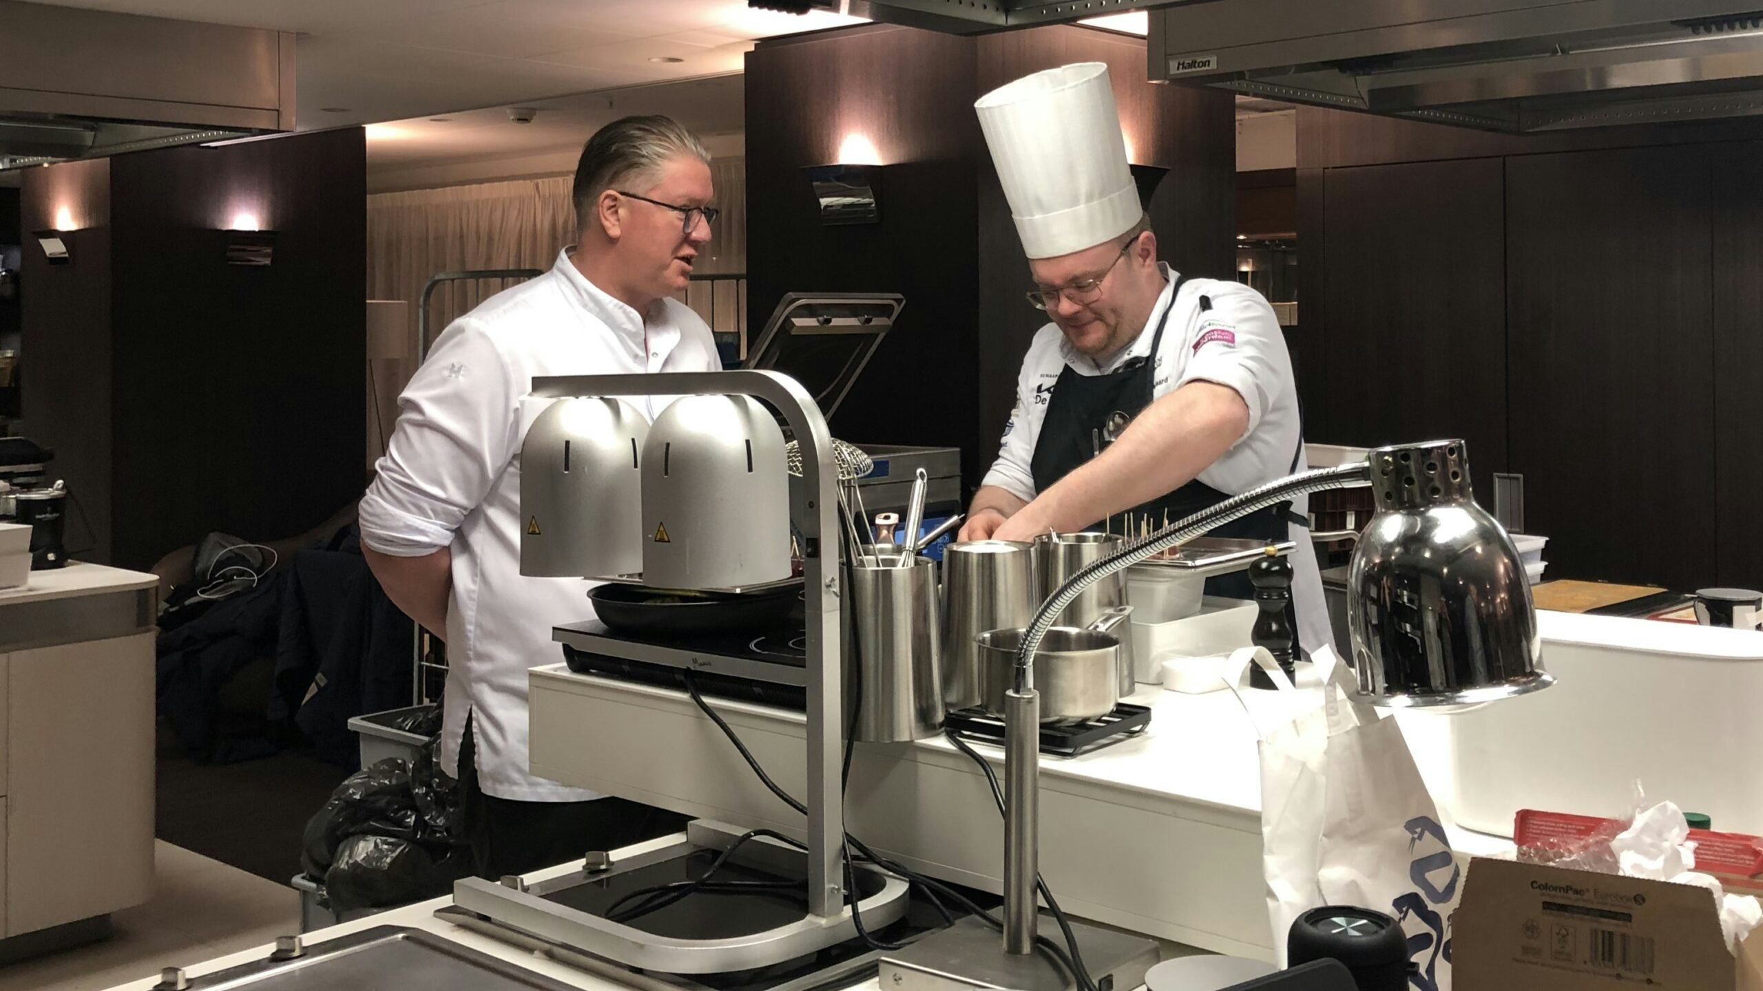
<path id="1" fill-rule="evenodd" d="M 987 630 L 1028 626 L 1035 617 L 1033 545 L 970 540 L 943 548 L 943 705 L 980 704 L 975 640 Z"/>

